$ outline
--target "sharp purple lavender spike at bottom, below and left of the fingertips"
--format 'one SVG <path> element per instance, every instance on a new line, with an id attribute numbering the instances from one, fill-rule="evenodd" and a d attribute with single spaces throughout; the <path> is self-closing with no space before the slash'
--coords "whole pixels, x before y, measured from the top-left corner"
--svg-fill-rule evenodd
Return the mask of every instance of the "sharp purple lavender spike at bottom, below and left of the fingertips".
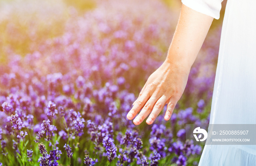
<path id="1" fill-rule="evenodd" d="M 116 145 L 113 142 L 113 139 L 109 137 L 105 137 L 103 139 L 103 146 L 105 147 L 108 155 L 109 162 L 112 162 L 112 160 L 116 157 Z"/>

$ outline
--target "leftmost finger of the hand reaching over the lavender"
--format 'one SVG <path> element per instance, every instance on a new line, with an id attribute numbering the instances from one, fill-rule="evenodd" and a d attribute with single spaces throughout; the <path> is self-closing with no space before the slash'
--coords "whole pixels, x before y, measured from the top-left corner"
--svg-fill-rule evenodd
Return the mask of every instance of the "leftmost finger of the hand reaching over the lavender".
<path id="1" fill-rule="evenodd" d="M 143 93 L 139 99 L 136 100 L 135 104 L 133 105 L 132 109 L 127 114 L 127 119 L 132 120 L 133 117 L 137 115 L 137 113 L 142 109 L 142 107 L 146 104 L 147 100 L 150 97 L 151 89 L 146 90 L 145 93 Z"/>

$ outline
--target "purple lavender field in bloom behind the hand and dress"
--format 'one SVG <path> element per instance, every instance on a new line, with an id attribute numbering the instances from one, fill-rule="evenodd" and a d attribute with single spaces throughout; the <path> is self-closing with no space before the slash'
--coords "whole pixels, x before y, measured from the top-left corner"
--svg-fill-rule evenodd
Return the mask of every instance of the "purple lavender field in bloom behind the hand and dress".
<path id="1" fill-rule="evenodd" d="M 197 165 L 185 124 L 209 123 L 221 28 L 169 121 L 126 118 L 164 61 L 178 10 L 161 0 L 0 2 L 0 166 Z"/>

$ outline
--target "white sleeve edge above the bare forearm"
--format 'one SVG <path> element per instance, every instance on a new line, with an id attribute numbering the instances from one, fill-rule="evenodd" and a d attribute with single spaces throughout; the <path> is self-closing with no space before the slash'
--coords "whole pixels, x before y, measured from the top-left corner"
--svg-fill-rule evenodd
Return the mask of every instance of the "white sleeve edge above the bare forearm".
<path id="1" fill-rule="evenodd" d="M 217 20 L 219 19 L 219 13 L 221 12 L 222 1 L 223 0 L 181 0 L 182 4 L 187 7 Z"/>

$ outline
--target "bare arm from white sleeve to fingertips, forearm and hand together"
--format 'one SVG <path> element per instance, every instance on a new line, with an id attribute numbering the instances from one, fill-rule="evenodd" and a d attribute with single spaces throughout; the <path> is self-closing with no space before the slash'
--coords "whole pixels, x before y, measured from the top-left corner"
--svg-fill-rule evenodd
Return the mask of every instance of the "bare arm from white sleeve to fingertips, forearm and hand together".
<path id="1" fill-rule="evenodd" d="M 188 75 L 202 47 L 213 18 L 184 4 L 165 62 L 148 78 L 127 118 L 138 125 L 149 115 L 152 124 L 167 104 L 165 120 L 172 116 L 188 81 Z M 185 66 L 185 67 L 183 67 Z"/>

